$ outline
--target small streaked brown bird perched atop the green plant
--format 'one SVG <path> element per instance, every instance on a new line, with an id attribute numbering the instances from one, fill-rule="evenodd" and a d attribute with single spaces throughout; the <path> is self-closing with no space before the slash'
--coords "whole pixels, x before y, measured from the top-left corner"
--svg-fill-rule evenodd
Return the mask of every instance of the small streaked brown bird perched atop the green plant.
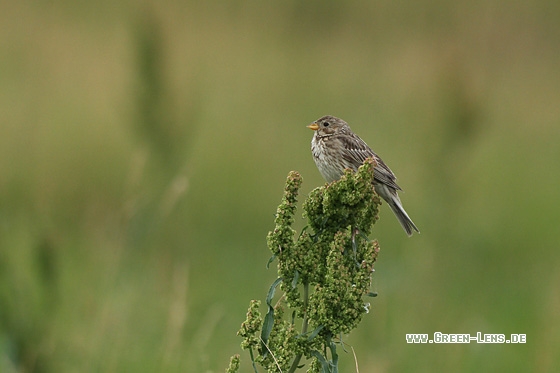
<path id="1" fill-rule="evenodd" d="M 327 182 L 340 179 L 346 168 L 357 171 L 366 158 L 373 157 L 377 163 L 373 173 L 375 191 L 391 207 L 408 236 L 412 236 L 412 230 L 420 233 L 402 206 L 397 194 L 402 189 L 395 182 L 395 174 L 364 140 L 352 132 L 348 123 L 326 115 L 307 127 L 315 131 L 311 152 L 319 172 Z"/>

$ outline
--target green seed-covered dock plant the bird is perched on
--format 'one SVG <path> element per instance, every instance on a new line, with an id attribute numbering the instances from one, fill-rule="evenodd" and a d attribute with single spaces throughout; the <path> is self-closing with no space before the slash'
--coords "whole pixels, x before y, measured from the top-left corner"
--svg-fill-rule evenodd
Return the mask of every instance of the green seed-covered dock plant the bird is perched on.
<path id="1" fill-rule="evenodd" d="M 381 201 L 372 187 L 373 162 L 309 194 L 303 203 L 308 225 L 297 239 L 292 224 L 302 178 L 295 171 L 288 175 L 276 227 L 267 237 L 278 279 L 266 297 L 264 318 L 261 303 L 251 301 L 238 332 L 255 372 L 260 365 L 291 373 L 304 366 L 303 357 L 311 359 L 308 372 L 338 371 L 337 346 L 344 348 L 343 336 L 369 311 L 364 297 L 376 295 L 370 283 L 379 246 L 368 235 Z M 278 285 L 283 295 L 273 304 Z M 228 372 L 239 367 L 238 357 L 233 361 Z"/>

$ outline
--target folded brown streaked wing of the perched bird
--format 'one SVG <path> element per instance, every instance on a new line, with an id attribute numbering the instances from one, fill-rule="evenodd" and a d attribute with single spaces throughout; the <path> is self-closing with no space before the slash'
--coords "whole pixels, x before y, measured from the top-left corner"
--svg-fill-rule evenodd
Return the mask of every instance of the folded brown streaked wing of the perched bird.
<path id="1" fill-rule="evenodd" d="M 377 154 L 371 150 L 371 148 L 365 143 L 364 140 L 359 138 L 354 134 L 354 136 L 348 137 L 341 137 L 340 140 L 342 141 L 343 145 L 343 152 L 342 157 L 348 161 L 350 164 L 357 165 L 356 169 L 364 163 L 364 161 L 369 158 L 373 157 L 377 163 L 374 168 L 373 178 L 382 184 L 387 185 L 390 188 L 395 190 L 402 190 L 396 183 L 397 178 L 395 174 L 389 166 L 383 162 L 381 158 Z"/>

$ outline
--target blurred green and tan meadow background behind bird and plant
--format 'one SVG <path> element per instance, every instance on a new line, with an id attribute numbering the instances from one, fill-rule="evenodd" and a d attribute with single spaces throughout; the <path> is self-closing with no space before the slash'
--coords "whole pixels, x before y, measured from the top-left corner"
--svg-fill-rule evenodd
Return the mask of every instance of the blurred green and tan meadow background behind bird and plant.
<path id="1" fill-rule="evenodd" d="M 301 201 L 323 184 L 305 126 L 325 114 L 422 232 L 382 207 L 359 371 L 560 371 L 559 19 L 556 0 L 2 2 L 0 371 L 222 372 L 276 277 L 288 172 Z M 527 343 L 405 342 L 434 332 Z"/>

